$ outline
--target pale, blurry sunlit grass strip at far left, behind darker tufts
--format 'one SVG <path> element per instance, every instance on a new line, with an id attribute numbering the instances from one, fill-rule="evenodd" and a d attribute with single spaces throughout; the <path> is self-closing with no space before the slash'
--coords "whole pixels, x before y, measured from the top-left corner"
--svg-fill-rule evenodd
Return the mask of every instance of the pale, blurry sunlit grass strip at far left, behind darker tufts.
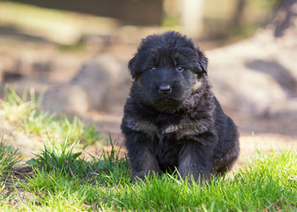
<path id="1" fill-rule="evenodd" d="M 39 110 L 43 95 L 35 96 L 34 89 L 25 91 L 21 96 L 16 92 L 16 87 L 4 88 L 4 102 L 1 107 L 4 117 L 13 125 L 20 127 L 25 133 L 62 137 L 72 143 L 80 140 L 83 144 L 93 144 L 99 141 L 100 134 L 94 125 L 85 127 L 78 117 L 70 121 L 67 117 L 57 117 L 48 111 Z"/>

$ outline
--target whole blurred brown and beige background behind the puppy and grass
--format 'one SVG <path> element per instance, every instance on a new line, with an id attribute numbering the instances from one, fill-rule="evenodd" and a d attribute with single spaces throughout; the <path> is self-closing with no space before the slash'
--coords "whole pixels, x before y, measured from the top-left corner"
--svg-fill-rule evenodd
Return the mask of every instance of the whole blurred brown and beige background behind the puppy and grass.
<path id="1" fill-rule="evenodd" d="M 121 141 L 127 62 L 141 38 L 175 30 L 206 51 L 243 154 L 296 147 L 296 17 L 295 0 L 0 1 L 0 94 L 34 87 L 41 110 Z"/>

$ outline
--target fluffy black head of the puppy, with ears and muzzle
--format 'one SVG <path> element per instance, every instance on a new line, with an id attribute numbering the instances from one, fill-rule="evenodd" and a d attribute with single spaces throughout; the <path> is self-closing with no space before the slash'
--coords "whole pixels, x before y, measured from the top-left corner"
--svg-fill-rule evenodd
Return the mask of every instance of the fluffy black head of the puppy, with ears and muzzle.
<path id="1" fill-rule="evenodd" d="M 199 89 L 207 58 L 178 33 L 150 35 L 129 62 L 133 92 L 156 110 L 173 112 Z"/>

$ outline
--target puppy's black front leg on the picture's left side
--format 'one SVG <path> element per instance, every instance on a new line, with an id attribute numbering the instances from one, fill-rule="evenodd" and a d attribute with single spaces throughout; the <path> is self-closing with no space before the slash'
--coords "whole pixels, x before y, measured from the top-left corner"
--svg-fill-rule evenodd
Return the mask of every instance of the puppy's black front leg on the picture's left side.
<path id="1" fill-rule="evenodd" d="M 149 148 L 150 140 L 141 133 L 132 133 L 126 136 L 126 148 L 128 150 L 129 167 L 132 181 L 135 177 L 144 178 L 153 171 L 160 172 L 156 156 Z"/>

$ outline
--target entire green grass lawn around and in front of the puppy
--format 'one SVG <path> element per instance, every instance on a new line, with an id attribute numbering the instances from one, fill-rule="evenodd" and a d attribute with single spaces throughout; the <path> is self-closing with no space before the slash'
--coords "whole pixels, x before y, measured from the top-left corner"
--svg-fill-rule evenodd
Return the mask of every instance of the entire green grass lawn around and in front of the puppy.
<path id="1" fill-rule="evenodd" d="M 4 95 L 3 118 L 48 143 L 34 158 L 23 158 L 9 146 L 13 140 L 0 135 L 0 211 L 297 211 L 294 149 L 259 152 L 240 170 L 203 185 L 178 174 L 131 184 L 126 156 L 111 138 L 101 157 L 83 154 L 99 140 L 93 125 L 39 111 L 33 92 Z M 19 166 L 21 159 L 27 163 Z"/>

